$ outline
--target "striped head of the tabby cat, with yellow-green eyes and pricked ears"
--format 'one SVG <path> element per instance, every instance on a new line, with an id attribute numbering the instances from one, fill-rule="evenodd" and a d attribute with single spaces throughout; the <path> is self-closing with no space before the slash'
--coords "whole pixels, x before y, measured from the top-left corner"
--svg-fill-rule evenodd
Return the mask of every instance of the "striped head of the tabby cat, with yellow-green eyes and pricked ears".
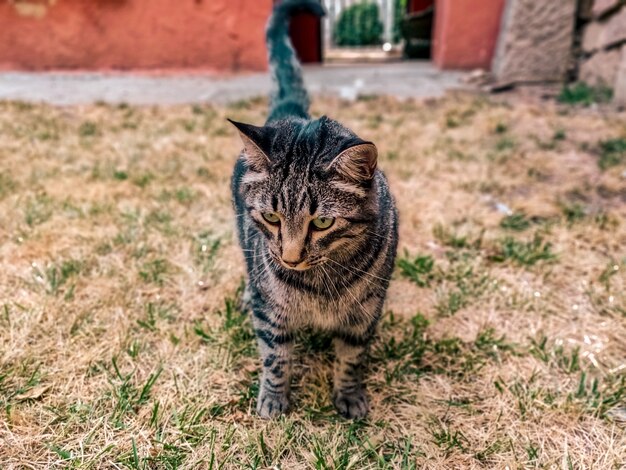
<path id="1" fill-rule="evenodd" d="M 357 249 L 376 219 L 374 144 L 326 117 L 231 122 L 244 144 L 239 190 L 270 255 L 303 271 Z"/>

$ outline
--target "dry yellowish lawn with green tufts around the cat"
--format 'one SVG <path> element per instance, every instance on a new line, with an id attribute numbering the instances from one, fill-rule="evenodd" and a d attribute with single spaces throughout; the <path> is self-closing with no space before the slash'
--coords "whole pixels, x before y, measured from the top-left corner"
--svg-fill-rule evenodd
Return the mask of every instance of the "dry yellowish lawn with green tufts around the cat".
<path id="1" fill-rule="evenodd" d="M 378 144 L 401 217 L 372 411 L 255 416 L 229 106 L 0 103 L 4 468 L 623 468 L 626 116 L 449 94 L 314 100 Z"/>

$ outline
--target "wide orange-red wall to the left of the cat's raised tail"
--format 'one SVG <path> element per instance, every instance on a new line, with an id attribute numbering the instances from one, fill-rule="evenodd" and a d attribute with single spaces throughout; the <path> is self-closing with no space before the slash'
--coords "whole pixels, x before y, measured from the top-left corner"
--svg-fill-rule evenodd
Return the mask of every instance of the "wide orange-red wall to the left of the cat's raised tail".
<path id="1" fill-rule="evenodd" d="M 262 70 L 271 4 L 0 0 L 0 69 Z"/>

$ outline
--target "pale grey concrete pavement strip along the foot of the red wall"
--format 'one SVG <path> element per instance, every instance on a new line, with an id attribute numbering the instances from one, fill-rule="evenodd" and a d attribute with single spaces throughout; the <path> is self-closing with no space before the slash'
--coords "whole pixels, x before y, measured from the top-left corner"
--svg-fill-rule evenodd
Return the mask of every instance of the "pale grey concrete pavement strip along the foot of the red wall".
<path id="1" fill-rule="evenodd" d="M 462 88 L 462 76 L 462 73 L 438 70 L 426 61 L 304 68 L 305 83 L 311 94 L 345 99 L 359 95 L 437 97 L 447 90 Z M 267 95 L 270 86 L 267 73 L 225 76 L 154 72 L 2 72 L 0 100 L 55 105 L 96 101 L 135 105 L 229 103 Z"/>

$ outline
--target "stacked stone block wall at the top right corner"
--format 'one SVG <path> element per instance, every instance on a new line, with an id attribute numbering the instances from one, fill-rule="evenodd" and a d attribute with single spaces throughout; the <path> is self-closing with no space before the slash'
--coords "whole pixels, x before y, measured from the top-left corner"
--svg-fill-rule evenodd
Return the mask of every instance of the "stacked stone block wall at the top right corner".
<path id="1" fill-rule="evenodd" d="M 615 101 L 626 105 L 626 0 L 584 3 L 578 78 L 613 89 Z"/>

